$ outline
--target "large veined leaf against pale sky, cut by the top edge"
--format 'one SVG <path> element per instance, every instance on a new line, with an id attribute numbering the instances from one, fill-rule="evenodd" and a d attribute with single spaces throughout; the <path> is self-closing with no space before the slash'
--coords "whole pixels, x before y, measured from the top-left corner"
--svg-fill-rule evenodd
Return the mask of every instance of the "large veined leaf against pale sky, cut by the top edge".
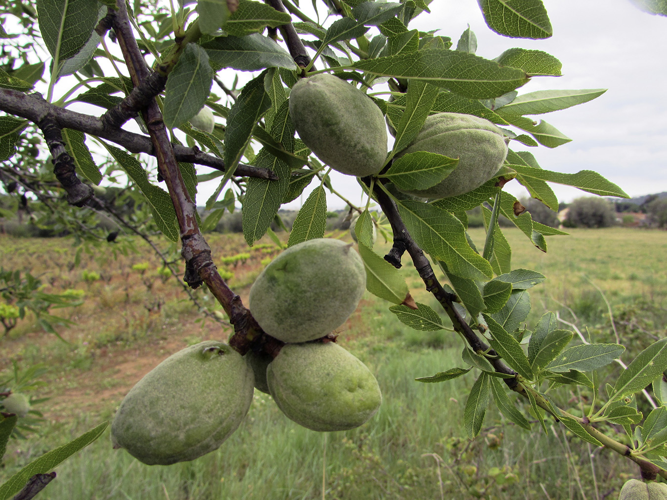
<path id="1" fill-rule="evenodd" d="M 551 22 L 542 0 L 477 0 L 488 27 L 512 38 L 549 38 Z"/>

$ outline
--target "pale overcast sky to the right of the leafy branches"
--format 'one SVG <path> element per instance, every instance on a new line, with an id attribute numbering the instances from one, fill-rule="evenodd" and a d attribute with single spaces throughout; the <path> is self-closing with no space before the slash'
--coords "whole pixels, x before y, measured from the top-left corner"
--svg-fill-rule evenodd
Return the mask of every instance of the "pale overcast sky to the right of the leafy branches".
<path id="1" fill-rule="evenodd" d="M 301 2 L 305 7 L 309 2 Z M 616 183 L 628 195 L 667 191 L 667 18 L 638 10 L 630 0 L 545 0 L 554 35 L 546 40 L 511 39 L 490 31 L 476 0 L 435 0 L 432 13 L 420 15 L 410 27 L 440 29 L 454 45 L 470 24 L 478 38 L 477 54 L 493 59 L 511 47 L 540 49 L 560 59 L 561 77 L 536 77 L 519 93 L 546 89 L 608 89 L 588 103 L 538 115 L 572 139 L 548 149 L 513 142 L 515 151 L 530 151 L 544 169 L 572 173 L 591 169 Z M 250 76 L 250 75 L 248 75 Z M 353 202 L 362 203 L 354 177 L 334 173 Z M 302 197 L 313 189 L 309 186 Z M 552 184 L 561 201 L 590 195 Z M 214 189 L 200 185 L 201 205 Z M 526 190 L 516 181 L 507 191 Z M 299 208 L 297 199 L 289 208 Z M 344 208 L 338 197 L 327 198 L 329 209 Z M 285 207 L 287 208 L 287 206 Z"/>

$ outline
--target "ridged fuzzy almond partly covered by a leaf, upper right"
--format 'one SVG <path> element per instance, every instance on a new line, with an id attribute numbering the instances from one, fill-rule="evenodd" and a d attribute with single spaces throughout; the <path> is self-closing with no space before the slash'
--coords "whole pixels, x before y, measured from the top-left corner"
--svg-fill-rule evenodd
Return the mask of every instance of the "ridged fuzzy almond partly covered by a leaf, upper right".
<path id="1" fill-rule="evenodd" d="M 422 198 L 440 199 L 470 193 L 494 177 L 508 153 L 502 130 L 484 118 L 461 113 L 437 113 L 426 118 L 410 146 L 397 157 L 427 151 L 459 163 L 440 183 L 427 189 L 401 189 Z"/>

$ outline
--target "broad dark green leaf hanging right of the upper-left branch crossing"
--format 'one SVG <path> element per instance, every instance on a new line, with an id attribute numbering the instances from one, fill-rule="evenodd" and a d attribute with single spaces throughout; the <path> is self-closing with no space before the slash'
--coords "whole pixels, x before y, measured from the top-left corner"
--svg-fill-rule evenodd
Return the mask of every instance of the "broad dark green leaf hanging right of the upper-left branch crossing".
<path id="1" fill-rule="evenodd" d="M 196 43 L 188 43 L 169 73 L 165 87 L 164 121 L 173 129 L 196 115 L 211 93 L 213 69 L 208 54 Z"/>

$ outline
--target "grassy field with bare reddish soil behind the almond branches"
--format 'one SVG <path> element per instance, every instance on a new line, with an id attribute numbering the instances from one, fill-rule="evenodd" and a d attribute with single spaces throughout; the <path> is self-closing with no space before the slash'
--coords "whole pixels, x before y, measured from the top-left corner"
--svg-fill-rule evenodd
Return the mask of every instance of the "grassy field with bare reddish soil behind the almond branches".
<path id="1" fill-rule="evenodd" d="M 544 312 L 558 311 L 594 341 L 618 339 L 629 347 L 628 355 L 667 336 L 667 233 L 572 230 L 570 237 L 550 237 L 548 253 L 519 231 L 504 233 L 512 244 L 513 267 L 548 277 L 531 290 L 529 329 Z M 480 230 L 472 230 L 471 237 L 478 243 L 484 239 Z M 244 301 L 265 259 L 279 251 L 270 241 L 247 249 L 241 235 L 212 235 L 209 241 L 216 261 L 235 256 L 220 268 Z M 0 340 L 0 380 L 10 377 L 11 360 L 19 367 L 43 363 L 49 369 L 41 377 L 45 385 L 33 397 L 50 398 L 36 407 L 44 415 L 37 433 L 9 443 L 0 478 L 111 419 L 129 388 L 169 354 L 189 343 L 229 336 L 225 325 L 202 320 L 181 285 L 163 275 L 145 243 L 129 243 L 84 249 L 77 266 L 77 248 L 68 239 L 0 237 L 2 267 L 39 275 L 52 293 L 80 289 L 85 294 L 83 305 L 53 311 L 77 323 L 59 329 L 67 342 L 30 319 Z M 162 241 L 160 247 L 165 255 L 177 256 L 175 246 Z M 416 299 L 433 304 L 412 265 L 406 263 L 404 273 Z M 203 289 L 194 295 L 201 305 L 213 303 Z M 638 477 L 628 461 L 578 441 L 553 419 L 547 434 L 538 424 L 531 431 L 516 429 L 493 405 L 482 433 L 469 441 L 462 414 L 472 372 L 445 383 L 414 381 L 463 366 L 458 336 L 409 329 L 396 321 L 387 303 L 369 294 L 340 328 L 339 342 L 372 369 L 384 396 L 378 414 L 359 429 L 303 429 L 283 417 L 270 397 L 255 391 L 241 427 L 209 455 L 148 467 L 111 449 L 106 431 L 57 468 L 57 479 L 42 497 L 602 499 L 616 497 L 626 478 Z M 576 389 L 552 396 L 574 406 L 588 397 Z M 520 407 L 530 418 L 523 403 Z"/>

